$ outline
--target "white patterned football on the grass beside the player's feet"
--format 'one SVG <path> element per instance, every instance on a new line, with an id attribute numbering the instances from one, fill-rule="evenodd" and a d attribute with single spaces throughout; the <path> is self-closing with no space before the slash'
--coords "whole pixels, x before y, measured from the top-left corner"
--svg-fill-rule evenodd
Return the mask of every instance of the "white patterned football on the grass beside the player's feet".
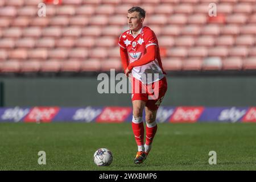
<path id="1" fill-rule="evenodd" d="M 109 166 L 112 163 L 113 155 L 107 148 L 99 148 L 94 153 L 93 159 L 97 166 Z"/>

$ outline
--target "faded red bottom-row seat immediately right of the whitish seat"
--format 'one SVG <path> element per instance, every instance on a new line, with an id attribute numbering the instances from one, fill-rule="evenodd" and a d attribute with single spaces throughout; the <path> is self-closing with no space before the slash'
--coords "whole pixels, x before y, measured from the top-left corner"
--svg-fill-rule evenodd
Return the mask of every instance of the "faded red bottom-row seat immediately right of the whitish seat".
<path id="1" fill-rule="evenodd" d="M 222 69 L 240 70 L 242 69 L 242 59 L 240 57 L 228 57 L 222 61 Z"/>

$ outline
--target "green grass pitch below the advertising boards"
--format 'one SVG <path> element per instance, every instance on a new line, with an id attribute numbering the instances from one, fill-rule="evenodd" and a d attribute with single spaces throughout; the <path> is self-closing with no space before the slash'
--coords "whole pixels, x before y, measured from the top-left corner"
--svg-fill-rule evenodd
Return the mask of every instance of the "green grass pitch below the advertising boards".
<path id="1" fill-rule="evenodd" d="M 101 147 L 109 167 L 93 163 Z M 46 152 L 46 165 L 38 152 Z M 217 152 L 210 165 L 209 151 Z M 0 170 L 256 170 L 255 123 L 159 123 L 147 160 L 133 163 L 131 123 L 0 123 Z"/>

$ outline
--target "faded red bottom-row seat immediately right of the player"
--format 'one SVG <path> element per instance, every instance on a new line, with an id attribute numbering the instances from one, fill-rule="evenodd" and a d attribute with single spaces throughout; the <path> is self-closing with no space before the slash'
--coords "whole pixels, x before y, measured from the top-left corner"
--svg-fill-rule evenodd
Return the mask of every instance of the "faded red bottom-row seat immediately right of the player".
<path id="1" fill-rule="evenodd" d="M 182 60 L 179 58 L 167 57 L 162 60 L 165 71 L 180 71 L 182 68 Z"/>

